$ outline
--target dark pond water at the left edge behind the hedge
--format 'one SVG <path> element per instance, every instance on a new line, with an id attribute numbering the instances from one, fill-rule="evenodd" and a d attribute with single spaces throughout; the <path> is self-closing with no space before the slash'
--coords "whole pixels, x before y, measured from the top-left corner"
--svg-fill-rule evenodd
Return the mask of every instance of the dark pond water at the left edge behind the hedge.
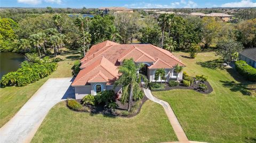
<path id="1" fill-rule="evenodd" d="M 0 79 L 8 72 L 17 71 L 24 60 L 25 57 L 21 54 L 0 52 Z"/>

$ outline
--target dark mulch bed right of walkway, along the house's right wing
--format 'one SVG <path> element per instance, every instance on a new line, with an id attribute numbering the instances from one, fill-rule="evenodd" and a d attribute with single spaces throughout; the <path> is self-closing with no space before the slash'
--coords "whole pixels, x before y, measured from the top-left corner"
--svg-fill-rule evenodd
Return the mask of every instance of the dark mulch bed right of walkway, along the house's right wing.
<path id="1" fill-rule="evenodd" d="M 165 89 L 163 90 L 172 90 L 172 89 L 191 89 L 191 90 L 195 90 L 201 94 L 210 94 L 213 89 L 212 89 L 212 86 L 210 85 L 210 83 L 208 81 L 204 81 L 204 82 L 201 82 L 201 83 L 204 83 L 207 87 L 208 87 L 208 90 L 206 91 L 203 91 L 199 88 L 199 84 L 200 82 L 196 83 L 192 83 L 189 87 L 186 87 L 183 85 L 183 83 L 180 82 L 180 84 L 178 86 L 175 86 L 175 87 L 170 87 L 167 83 L 165 84 Z M 162 90 L 162 91 L 163 91 Z"/>

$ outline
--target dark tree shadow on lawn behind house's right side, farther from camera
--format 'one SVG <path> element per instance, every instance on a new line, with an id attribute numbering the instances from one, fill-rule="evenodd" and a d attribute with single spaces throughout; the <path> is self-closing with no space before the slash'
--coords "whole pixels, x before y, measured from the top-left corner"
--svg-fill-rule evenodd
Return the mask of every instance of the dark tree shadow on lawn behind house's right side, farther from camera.
<path id="1" fill-rule="evenodd" d="M 212 61 L 206 61 L 206 62 L 196 62 L 196 64 L 201 65 L 203 68 L 209 68 L 209 69 L 221 69 L 223 70 L 225 66 L 223 65 L 223 60 L 216 59 Z"/>

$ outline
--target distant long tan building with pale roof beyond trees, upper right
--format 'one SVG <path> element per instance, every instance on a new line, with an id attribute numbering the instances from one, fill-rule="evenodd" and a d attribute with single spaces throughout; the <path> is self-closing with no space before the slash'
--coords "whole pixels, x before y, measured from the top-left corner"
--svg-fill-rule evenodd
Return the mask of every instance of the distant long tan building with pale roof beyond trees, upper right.
<path id="1" fill-rule="evenodd" d="M 215 17 L 215 18 L 219 18 L 223 22 L 230 22 L 232 20 L 232 18 L 233 18 L 233 15 L 229 15 L 229 14 L 226 14 L 226 13 L 204 14 L 204 13 L 201 13 L 201 12 L 192 12 L 189 15 L 191 15 L 191 16 L 198 16 L 199 18 L 203 18 L 205 16 Z"/>

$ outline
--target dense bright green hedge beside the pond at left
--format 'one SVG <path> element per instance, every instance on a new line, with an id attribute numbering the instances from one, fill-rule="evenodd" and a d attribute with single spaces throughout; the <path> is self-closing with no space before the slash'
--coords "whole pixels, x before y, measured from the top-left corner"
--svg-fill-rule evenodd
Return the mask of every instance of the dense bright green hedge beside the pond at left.
<path id="1" fill-rule="evenodd" d="M 5 86 L 27 86 L 49 76 L 57 69 L 58 64 L 55 62 L 21 63 L 21 68 L 15 72 L 5 74 L 1 79 L 1 87 Z"/>

